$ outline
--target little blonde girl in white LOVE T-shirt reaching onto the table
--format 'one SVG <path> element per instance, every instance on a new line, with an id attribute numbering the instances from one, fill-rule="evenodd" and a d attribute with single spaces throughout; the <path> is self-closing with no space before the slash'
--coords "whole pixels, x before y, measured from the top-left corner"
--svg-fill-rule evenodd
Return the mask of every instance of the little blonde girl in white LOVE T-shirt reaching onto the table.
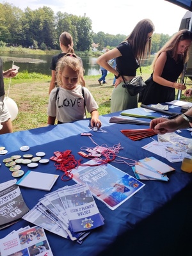
<path id="1" fill-rule="evenodd" d="M 82 120 L 86 118 L 86 106 L 92 115 L 91 126 L 100 128 L 99 107 L 89 90 L 79 84 L 81 69 L 76 54 L 68 53 L 58 61 L 56 81 L 60 87 L 49 95 L 47 124 L 54 125 L 55 119 L 58 124 Z"/>

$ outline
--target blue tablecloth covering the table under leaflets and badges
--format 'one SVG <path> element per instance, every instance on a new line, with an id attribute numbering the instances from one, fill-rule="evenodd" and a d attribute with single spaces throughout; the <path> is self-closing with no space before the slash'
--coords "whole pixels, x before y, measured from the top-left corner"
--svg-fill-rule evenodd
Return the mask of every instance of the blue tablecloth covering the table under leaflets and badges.
<path id="1" fill-rule="evenodd" d="M 169 110 L 172 111 L 172 110 Z M 179 107 L 174 107 L 173 112 L 180 112 Z M 127 113 L 145 114 L 143 109 L 127 110 Z M 159 113 L 147 115 L 161 116 Z M 140 141 L 129 140 L 120 130 L 148 128 L 147 125 L 110 124 L 111 116 L 120 116 L 120 113 L 111 113 L 100 116 L 102 129 L 106 132 L 93 132 L 88 129 L 90 120 L 81 120 L 69 124 L 52 125 L 28 131 L 13 132 L 0 136 L 0 146 L 4 146 L 8 153 L 0 156 L 0 182 L 13 179 L 12 173 L 4 166 L 3 159 L 15 154 L 33 154 L 45 152 L 45 157 L 54 156 L 55 151 L 72 150 L 76 159 L 81 158 L 77 152 L 81 147 L 94 147 L 90 138 L 81 136 L 81 132 L 91 132 L 92 138 L 98 145 L 105 143 L 109 147 L 120 143 L 124 148 L 119 155 L 139 160 L 154 156 L 164 163 L 175 168 L 175 172 L 168 173 L 169 181 L 161 182 L 143 180 L 146 184 L 138 193 L 120 205 L 115 211 L 111 211 L 106 205 L 95 198 L 99 211 L 105 219 L 105 225 L 93 230 L 83 241 L 77 244 L 68 241 L 51 232 L 47 232 L 47 238 L 54 256 L 59 255 L 189 255 L 191 253 L 191 195 L 192 174 L 180 170 L 181 163 L 170 163 L 163 157 L 144 150 L 143 147 L 151 138 Z M 148 120 L 148 119 L 142 119 Z M 150 121 L 150 120 L 148 120 Z M 189 131 L 182 131 L 182 136 L 191 138 Z M 157 136 L 153 137 L 157 139 Z M 20 147 L 28 145 L 28 152 L 21 152 Z M 85 163 L 87 159 L 83 159 Z M 115 167 L 134 176 L 132 168 L 127 164 L 111 162 Z M 25 172 L 27 166 L 22 166 Z M 63 186 L 75 184 L 73 180 L 63 182 L 60 170 L 56 170 L 54 162 L 39 164 L 36 172 L 56 173 L 60 177 L 51 191 Z M 19 178 L 18 178 L 19 179 Z M 43 181 L 42 181 L 43 182 Z M 29 209 L 34 207 L 38 200 L 46 194 L 46 191 L 20 187 L 22 196 Z M 9 234 L 13 229 L 26 227 L 33 224 L 20 220 L 18 223 L 1 230 L 0 238 Z"/>

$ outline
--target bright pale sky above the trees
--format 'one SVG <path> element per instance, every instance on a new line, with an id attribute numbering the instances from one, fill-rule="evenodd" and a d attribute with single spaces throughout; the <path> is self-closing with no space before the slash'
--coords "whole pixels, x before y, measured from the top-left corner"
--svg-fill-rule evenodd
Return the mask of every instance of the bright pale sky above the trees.
<path id="1" fill-rule="evenodd" d="M 154 23 L 154 33 L 172 36 L 179 31 L 186 9 L 164 0 L 0 0 L 25 10 L 50 7 L 54 13 L 67 12 L 77 16 L 86 15 L 92 20 L 92 30 L 111 35 L 129 35 L 141 19 Z M 63 29 L 65 30 L 65 29 Z"/>

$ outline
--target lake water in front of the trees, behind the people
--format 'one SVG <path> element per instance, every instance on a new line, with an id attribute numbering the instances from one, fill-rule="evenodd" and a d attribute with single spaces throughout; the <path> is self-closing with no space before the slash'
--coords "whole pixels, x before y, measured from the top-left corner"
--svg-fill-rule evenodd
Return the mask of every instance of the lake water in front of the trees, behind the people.
<path id="1" fill-rule="evenodd" d="M 17 65 L 20 72 L 28 70 L 29 73 L 36 72 L 51 76 L 51 59 L 52 55 L 36 55 L 36 54 L 1 54 L 3 60 L 3 69 L 7 70 Z M 154 56 L 150 56 L 149 60 L 145 60 L 144 65 L 150 65 Z M 99 75 L 99 65 L 96 63 L 97 58 L 86 56 L 81 58 L 84 67 L 84 76 Z M 143 65 L 143 64 L 142 64 Z"/>

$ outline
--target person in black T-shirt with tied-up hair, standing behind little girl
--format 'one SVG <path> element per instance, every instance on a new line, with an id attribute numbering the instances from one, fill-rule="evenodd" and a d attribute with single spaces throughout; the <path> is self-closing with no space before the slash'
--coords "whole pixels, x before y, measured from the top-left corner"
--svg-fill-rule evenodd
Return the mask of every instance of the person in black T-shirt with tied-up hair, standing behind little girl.
<path id="1" fill-rule="evenodd" d="M 60 58 L 65 56 L 65 54 L 67 54 L 67 53 L 74 53 L 73 46 L 74 46 L 74 43 L 73 43 L 73 39 L 72 39 L 72 36 L 70 35 L 70 33 L 66 32 L 66 31 L 61 33 L 60 48 L 61 48 L 62 52 L 60 54 L 53 56 L 52 60 L 51 60 L 51 83 L 49 86 L 49 94 L 51 93 L 51 90 L 56 86 L 56 65 L 58 63 L 58 60 L 60 60 Z M 84 72 L 83 61 L 79 57 L 78 57 L 78 59 L 82 66 L 80 83 L 82 86 L 85 86 L 85 81 L 84 81 L 84 77 L 83 77 L 83 72 Z"/>

